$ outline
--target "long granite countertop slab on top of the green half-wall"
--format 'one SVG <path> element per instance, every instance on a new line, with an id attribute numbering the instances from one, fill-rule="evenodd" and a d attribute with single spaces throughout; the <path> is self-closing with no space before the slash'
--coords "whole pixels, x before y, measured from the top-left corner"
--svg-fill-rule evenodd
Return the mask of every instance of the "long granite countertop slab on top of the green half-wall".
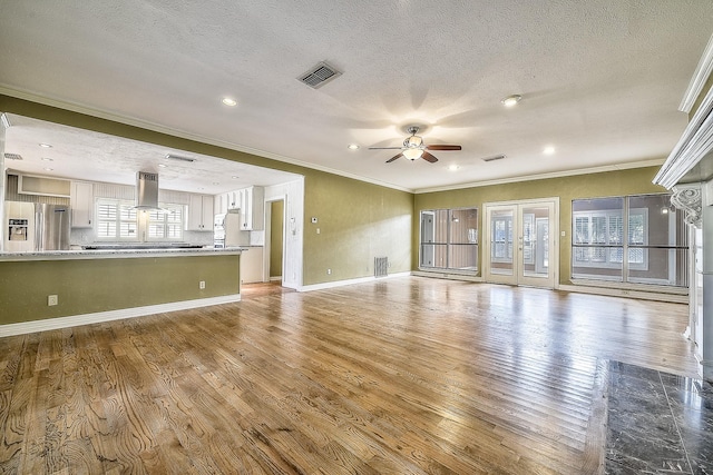
<path id="1" fill-rule="evenodd" d="M 225 249 L 203 248 L 141 248 L 141 249 L 72 249 L 23 253 L 0 253 L 0 261 L 10 260 L 71 260 L 71 259 L 110 259 L 137 257 L 185 257 L 211 255 L 236 255 L 248 250 L 247 247 L 229 247 Z"/>

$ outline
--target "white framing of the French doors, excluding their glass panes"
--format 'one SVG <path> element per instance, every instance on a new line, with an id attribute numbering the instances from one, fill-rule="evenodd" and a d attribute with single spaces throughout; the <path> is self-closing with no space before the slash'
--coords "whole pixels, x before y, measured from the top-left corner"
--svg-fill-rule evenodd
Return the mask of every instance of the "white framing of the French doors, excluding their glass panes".
<path id="1" fill-rule="evenodd" d="M 521 209 L 536 206 L 551 206 L 553 215 L 549 218 L 548 229 L 548 277 L 547 278 L 528 278 L 524 276 L 521 266 L 521 238 L 522 238 L 522 222 L 521 222 Z M 502 275 L 492 273 L 490 267 L 491 256 L 491 214 L 497 210 L 512 210 L 512 275 Z M 484 204 L 482 212 L 482 238 L 484 238 L 484 253 L 482 253 L 482 278 L 486 281 L 495 284 L 508 284 L 508 285 L 527 285 L 543 288 L 558 288 L 559 287 L 559 197 L 540 198 L 540 199 L 525 199 L 516 201 L 498 201 Z"/>

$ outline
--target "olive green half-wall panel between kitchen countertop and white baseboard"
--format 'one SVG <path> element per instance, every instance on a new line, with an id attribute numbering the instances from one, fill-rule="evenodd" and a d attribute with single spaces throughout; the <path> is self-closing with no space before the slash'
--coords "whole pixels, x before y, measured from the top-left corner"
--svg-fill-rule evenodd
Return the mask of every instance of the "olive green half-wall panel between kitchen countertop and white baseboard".
<path id="1" fill-rule="evenodd" d="M 0 325 L 235 295 L 238 276 L 238 255 L 2 261 Z"/>

